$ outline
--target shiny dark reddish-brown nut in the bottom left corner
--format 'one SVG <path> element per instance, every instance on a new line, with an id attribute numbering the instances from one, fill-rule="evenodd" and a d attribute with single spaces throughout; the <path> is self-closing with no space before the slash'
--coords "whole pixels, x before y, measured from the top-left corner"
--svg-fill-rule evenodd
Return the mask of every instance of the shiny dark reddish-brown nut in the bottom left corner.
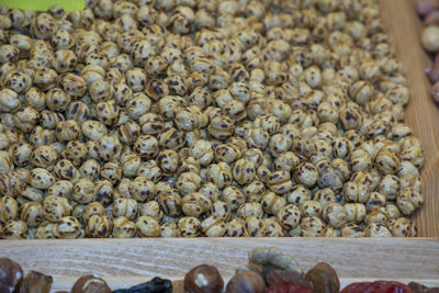
<path id="1" fill-rule="evenodd" d="M 0 292 L 19 292 L 23 281 L 23 270 L 20 264 L 9 258 L 0 258 Z"/>

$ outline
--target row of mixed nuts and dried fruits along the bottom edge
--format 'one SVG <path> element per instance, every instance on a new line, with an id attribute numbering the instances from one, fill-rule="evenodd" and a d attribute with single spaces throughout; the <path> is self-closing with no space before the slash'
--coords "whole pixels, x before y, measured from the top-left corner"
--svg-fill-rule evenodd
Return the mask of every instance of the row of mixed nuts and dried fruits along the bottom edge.
<path id="1" fill-rule="evenodd" d="M 23 277 L 19 263 L 0 258 L 1 292 L 48 293 L 53 279 L 41 272 L 30 271 Z M 236 269 L 236 274 L 225 281 L 219 271 L 210 264 L 193 267 L 183 280 L 170 281 L 155 277 L 150 281 L 128 289 L 112 291 L 108 283 L 95 275 L 79 278 L 71 293 L 436 293 L 439 288 L 428 288 L 410 282 L 395 281 L 357 282 L 340 288 L 336 270 L 319 262 L 304 271 L 296 260 L 273 247 L 250 251 L 248 263 Z M 58 291 L 57 293 L 65 293 Z"/>

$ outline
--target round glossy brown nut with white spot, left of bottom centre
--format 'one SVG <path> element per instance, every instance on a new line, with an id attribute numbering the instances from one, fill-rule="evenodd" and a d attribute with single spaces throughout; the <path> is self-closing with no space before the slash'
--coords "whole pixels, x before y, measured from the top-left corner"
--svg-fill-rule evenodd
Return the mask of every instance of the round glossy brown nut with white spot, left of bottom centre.
<path id="1" fill-rule="evenodd" d="M 223 292 L 224 280 L 215 267 L 201 264 L 184 275 L 184 289 L 189 293 L 219 293 Z"/>

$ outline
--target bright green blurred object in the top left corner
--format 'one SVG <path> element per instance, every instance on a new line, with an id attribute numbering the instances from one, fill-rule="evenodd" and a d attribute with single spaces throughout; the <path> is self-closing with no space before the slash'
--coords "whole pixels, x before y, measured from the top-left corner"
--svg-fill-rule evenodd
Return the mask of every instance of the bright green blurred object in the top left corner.
<path id="1" fill-rule="evenodd" d="M 0 0 L 9 8 L 46 11 L 53 5 L 60 5 L 65 11 L 81 10 L 86 8 L 85 0 Z"/>

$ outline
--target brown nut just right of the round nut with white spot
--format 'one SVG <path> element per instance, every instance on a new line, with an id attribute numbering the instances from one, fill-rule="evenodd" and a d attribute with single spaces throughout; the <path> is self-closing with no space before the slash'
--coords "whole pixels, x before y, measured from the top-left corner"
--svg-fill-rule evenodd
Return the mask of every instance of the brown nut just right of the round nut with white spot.
<path id="1" fill-rule="evenodd" d="M 263 293 L 266 282 L 256 271 L 244 271 L 235 274 L 226 286 L 226 293 Z"/>

